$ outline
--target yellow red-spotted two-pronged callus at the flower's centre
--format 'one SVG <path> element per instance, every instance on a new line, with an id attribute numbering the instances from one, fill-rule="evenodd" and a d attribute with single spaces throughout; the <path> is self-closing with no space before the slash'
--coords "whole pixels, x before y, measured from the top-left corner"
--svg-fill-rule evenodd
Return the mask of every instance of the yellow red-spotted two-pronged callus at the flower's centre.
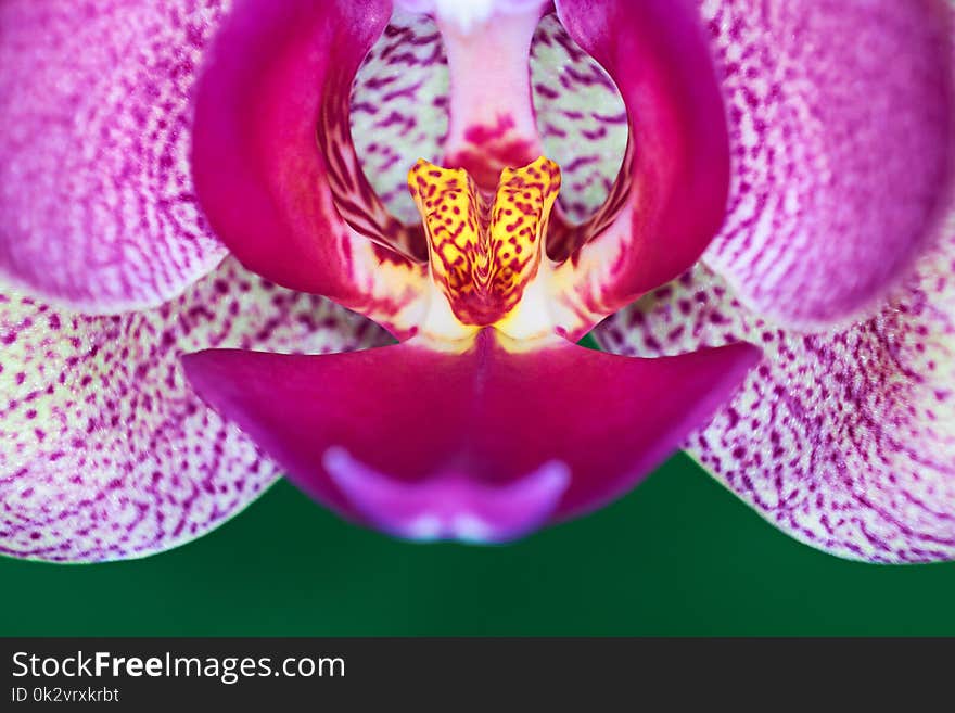
<path id="1" fill-rule="evenodd" d="M 492 196 L 464 169 L 420 160 L 408 186 L 424 224 L 432 281 L 455 320 L 464 333 L 502 327 L 542 269 L 558 165 L 542 156 L 505 168 Z"/>

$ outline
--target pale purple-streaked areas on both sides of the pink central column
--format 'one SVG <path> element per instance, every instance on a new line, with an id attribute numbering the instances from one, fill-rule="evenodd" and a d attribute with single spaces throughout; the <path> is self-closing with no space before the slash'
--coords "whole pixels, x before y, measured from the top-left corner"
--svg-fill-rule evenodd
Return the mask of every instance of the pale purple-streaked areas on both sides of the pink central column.
<path id="1" fill-rule="evenodd" d="M 531 44 L 531 87 L 545 155 L 558 162 L 565 217 L 582 222 L 620 171 L 627 116 L 613 80 L 545 15 Z M 434 21 L 395 11 L 352 91 L 352 139 L 361 168 L 395 217 L 418 224 L 408 170 L 441 163 L 448 132 L 447 55 Z"/>

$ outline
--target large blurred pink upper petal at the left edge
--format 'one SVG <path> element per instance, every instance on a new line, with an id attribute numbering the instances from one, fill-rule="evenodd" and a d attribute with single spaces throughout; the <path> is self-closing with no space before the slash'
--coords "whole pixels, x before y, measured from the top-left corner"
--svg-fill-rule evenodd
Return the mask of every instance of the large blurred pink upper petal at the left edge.
<path id="1" fill-rule="evenodd" d="M 187 166 L 228 2 L 0 3 L 0 271 L 88 313 L 151 307 L 226 254 Z"/>

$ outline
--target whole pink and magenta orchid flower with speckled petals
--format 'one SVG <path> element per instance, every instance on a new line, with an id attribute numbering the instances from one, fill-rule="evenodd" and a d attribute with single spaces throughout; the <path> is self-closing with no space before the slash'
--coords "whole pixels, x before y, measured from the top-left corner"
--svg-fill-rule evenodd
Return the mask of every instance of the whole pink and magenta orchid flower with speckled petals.
<path id="1" fill-rule="evenodd" d="M 162 551 L 281 473 L 508 542 L 686 445 L 803 542 L 952 558 L 951 22 L 0 0 L 0 551 Z"/>

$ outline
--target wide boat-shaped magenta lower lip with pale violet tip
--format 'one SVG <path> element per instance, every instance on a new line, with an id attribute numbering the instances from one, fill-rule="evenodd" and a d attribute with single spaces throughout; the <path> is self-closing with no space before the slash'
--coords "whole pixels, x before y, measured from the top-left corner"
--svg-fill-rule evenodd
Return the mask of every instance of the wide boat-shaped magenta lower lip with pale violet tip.
<path id="1" fill-rule="evenodd" d="M 336 511 L 406 537 L 498 542 L 626 492 L 757 354 L 627 359 L 570 343 L 511 354 L 485 331 L 461 355 L 413 343 L 321 357 L 217 349 L 184 365 L 207 403 Z"/>

